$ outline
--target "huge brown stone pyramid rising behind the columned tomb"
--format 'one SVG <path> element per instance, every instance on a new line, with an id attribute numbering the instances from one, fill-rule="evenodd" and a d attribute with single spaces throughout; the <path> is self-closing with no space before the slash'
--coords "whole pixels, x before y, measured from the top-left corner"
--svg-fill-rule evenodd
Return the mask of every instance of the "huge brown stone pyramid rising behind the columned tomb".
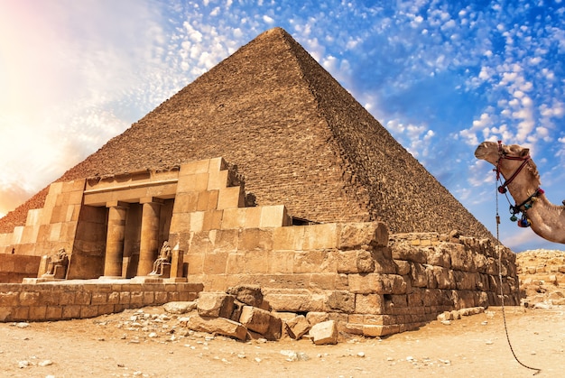
<path id="1" fill-rule="evenodd" d="M 492 237 L 281 28 L 257 36 L 58 181 L 218 156 L 237 165 L 258 205 L 285 205 L 292 217 Z M 45 195 L 0 219 L 0 232 L 23 225 Z"/>

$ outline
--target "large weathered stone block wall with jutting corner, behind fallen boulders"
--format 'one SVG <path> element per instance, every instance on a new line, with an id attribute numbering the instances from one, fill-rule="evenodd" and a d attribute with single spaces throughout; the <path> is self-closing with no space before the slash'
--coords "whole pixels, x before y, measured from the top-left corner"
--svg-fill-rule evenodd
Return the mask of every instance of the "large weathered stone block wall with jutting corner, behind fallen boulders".
<path id="1" fill-rule="evenodd" d="M 325 312 L 343 330 L 384 336 L 443 311 L 500 305 L 496 246 L 457 234 L 391 235 L 380 222 L 195 232 L 189 281 L 206 291 L 258 285 L 279 312 Z M 506 305 L 515 256 L 501 248 Z"/>

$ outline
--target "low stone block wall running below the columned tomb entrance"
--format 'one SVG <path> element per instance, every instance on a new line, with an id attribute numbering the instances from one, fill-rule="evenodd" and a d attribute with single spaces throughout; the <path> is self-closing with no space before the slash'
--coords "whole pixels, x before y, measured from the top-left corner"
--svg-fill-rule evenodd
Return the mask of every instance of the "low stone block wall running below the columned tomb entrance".
<path id="1" fill-rule="evenodd" d="M 103 314 L 195 300 L 198 283 L 104 283 L 100 281 L 0 284 L 0 321 L 94 318 Z"/>

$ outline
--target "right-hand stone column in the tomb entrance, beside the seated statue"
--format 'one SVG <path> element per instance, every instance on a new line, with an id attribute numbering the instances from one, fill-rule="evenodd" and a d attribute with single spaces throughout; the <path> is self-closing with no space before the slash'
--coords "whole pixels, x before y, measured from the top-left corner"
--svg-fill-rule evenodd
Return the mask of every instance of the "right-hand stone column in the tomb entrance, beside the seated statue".
<path id="1" fill-rule="evenodd" d="M 139 245 L 139 264 L 137 275 L 146 276 L 153 271 L 153 262 L 159 254 L 159 215 L 162 200 L 159 198 L 141 198 L 142 210 L 141 241 Z"/>

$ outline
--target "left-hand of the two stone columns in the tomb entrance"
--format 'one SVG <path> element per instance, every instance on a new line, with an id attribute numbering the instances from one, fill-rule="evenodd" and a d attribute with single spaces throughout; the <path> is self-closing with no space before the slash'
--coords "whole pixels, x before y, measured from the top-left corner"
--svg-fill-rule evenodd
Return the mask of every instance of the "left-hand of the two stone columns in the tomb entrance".
<path id="1" fill-rule="evenodd" d="M 123 202 L 108 202 L 108 228 L 106 255 L 104 259 L 104 277 L 122 277 L 124 258 L 125 217 L 128 205 Z"/>

